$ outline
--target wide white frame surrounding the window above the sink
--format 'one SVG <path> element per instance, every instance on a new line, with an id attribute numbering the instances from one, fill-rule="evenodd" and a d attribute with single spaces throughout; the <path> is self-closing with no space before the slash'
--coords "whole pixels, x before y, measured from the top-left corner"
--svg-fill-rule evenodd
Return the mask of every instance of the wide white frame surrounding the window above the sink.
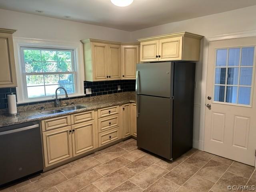
<path id="1" fill-rule="evenodd" d="M 79 42 L 62 42 L 55 40 L 43 40 L 43 39 L 31 39 L 31 38 L 18 38 L 13 37 L 14 40 L 14 57 L 15 57 L 15 65 L 16 65 L 16 76 L 17 76 L 17 84 L 16 92 L 17 92 L 17 103 L 29 103 L 29 102 L 40 102 L 46 100 L 55 99 L 55 95 L 53 96 L 42 96 L 36 98 L 28 98 L 26 81 L 24 81 L 24 58 L 22 58 L 22 47 L 26 48 L 34 48 L 34 49 L 54 49 L 54 50 L 72 50 L 73 51 L 73 65 L 74 65 L 74 86 L 76 92 L 74 94 L 68 94 L 70 98 L 77 96 L 85 96 L 84 94 L 84 62 L 83 62 L 83 48 L 82 44 Z M 51 72 L 49 72 L 51 73 Z M 53 72 L 55 73 L 55 72 Z M 66 74 L 66 72 L 64 72 Z M 58 95 L 58 98 L 65 98 L 65 95 Z"/>

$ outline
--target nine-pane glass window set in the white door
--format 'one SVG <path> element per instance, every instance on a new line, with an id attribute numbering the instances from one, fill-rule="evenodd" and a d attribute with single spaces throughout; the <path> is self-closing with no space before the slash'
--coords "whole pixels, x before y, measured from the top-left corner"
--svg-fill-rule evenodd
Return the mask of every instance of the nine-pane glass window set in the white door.
<path id="1" fill-rule="evenodd" d="M 250 105 L 254 47 L 216 50 L 214 101 Z"/>

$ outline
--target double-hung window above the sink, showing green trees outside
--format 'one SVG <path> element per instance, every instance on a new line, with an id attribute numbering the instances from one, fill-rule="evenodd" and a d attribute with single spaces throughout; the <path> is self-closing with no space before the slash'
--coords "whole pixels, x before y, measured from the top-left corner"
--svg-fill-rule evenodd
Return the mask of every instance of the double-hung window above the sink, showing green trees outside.
<path id="1" fill-rule="evenodd" d="M 54 96 L 60 86 L 68 94 L 77 92 L 74 50 L 21 47 L 21 56 L 25 98 Z"/>

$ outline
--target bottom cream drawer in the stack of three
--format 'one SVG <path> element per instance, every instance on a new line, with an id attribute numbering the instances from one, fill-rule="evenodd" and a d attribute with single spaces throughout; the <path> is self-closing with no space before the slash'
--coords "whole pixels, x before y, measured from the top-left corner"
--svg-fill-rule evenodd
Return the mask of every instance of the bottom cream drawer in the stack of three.
<path id="1" fill-rule="evenodd" d="M 99 133 L 99 147 L 120 139 L 119 127 Z"/>

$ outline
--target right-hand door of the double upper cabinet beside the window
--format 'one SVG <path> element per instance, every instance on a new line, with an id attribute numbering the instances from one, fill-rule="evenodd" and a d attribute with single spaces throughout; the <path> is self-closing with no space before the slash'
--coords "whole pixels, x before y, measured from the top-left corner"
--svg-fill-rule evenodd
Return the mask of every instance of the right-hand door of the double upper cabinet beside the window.
<path id="1" fill-rule="evenodd" d="M 121 46 L 108 44 L 108 79 L 121 79 Z"/>

